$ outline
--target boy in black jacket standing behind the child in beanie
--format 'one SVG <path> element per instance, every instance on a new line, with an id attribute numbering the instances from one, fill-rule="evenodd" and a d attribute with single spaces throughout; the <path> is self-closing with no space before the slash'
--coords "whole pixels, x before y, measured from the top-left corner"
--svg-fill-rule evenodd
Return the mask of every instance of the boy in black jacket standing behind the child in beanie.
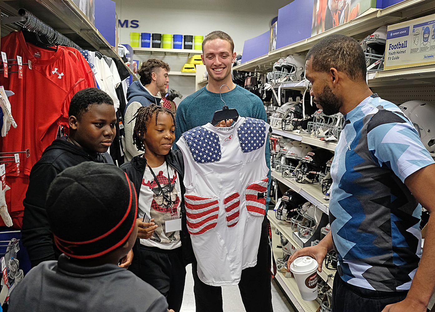
<path id="1" fill-rule="evenodd" d="M 54 140 L 33 165 L 23 200 L 21 233 L 32 267 L 57 260 L 61 254 L 54 245 L 45 209 L 48 187 L 56 175 L 84 161 L 113 164 L 107 149 L 116 134 L 116 114 L 109 95 L 97 88 L 78 91 L 71 99 L 68 116 L 69 136 Z M 131 259 L 123 266 L 130 262 Z"/>

